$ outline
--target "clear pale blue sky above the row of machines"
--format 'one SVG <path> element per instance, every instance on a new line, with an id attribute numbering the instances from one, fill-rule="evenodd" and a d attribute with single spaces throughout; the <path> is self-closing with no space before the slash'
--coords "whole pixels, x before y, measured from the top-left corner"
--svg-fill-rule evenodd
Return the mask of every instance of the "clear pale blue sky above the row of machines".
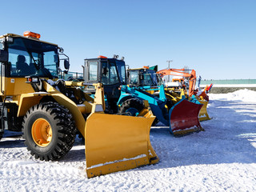
<path id="1" fill-rule="evenodd" d="M 2 1 L 0 34 L 30 30 L 84 58 L 124 56 L 130 68 L 188 66 L 203 79 L 256 78 L 256 1 Z"/>

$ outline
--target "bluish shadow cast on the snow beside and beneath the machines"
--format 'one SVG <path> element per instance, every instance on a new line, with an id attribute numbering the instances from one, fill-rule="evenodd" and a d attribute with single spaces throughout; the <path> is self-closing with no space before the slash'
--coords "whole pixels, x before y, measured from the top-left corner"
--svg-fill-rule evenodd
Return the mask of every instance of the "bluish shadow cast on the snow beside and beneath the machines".
<path id="1" fill-rule="evenodd" d="M 201 122 L 206 131 L 180 138 L 175 138 L 170 134 L 169 128 L 161 123 L 160 126 L 152 127 L 150 142 L 160 162 L 137 170 L 199 164 L 256 163 L 256 126 L 253 117 L 256 110 L 253 109 L 256 109 L 256 104 L 214 100 L 207 109 L 213 119 Z M 238 110 L 246 110 L 246 113 Z M 21 138 L 21 135 L 10 135 L 8 138 L 10 137 Z M 4 140 L 0 142 L 0 148 L 25 147 L 23 142 L 22 139 Z M 84 141 L 77 138 L 74 146 L 77 147 L 73 147 L 61 162 L 86 161 L 85 149 L 82 147 Z"/>

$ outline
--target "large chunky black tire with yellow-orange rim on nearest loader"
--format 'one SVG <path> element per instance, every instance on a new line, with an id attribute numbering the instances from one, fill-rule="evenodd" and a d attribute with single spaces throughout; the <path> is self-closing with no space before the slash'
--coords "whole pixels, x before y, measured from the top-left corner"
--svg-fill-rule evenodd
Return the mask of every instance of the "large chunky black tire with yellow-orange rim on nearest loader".
<path id="1" fill-rule="evenodd" d="M 35 135 L 39 134 L 32 135 L 32 131 L 39 130 L 38 132 L 41 133 L 45 127 L 38 128 L 36 121 L 45 121 L 51 128 L 50 142 L 47 141 L 48 143 L 44 146 L 42 143 L 34 141 Z M 45 128 L 47 129 L 47 127 Z M 35 158 L 40 158 L 40 160 L 50 161 L 58 160 L 70 151 L 75 140 L 76 128 L 69 110 L 56 102 L 43 102 L 32 106 L 26 112 L 22 123 L 22 133 L 30 154 L 34 155 Z M 43 141 L 43 139 L 41 140 Z"/>

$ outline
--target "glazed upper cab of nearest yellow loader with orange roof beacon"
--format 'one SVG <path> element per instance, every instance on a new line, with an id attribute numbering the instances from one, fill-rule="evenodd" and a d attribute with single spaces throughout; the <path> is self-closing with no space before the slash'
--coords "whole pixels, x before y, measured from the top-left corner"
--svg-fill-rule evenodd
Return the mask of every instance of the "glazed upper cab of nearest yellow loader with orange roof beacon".
<path id="1" fill-rule="evenodd" d="M 24 36 L 5 34 L 0 37 L 1 54 L 6 54 L 5 59 L 0 57 L 0 62 L 5 63 L 5 77 L 58 78 L 58 51 L 62 52 L 62 48 L 49 42 L 42 42 L 39 38 L 40 34 L 29 31 L 26 31 Z M 68 60 L 64 62 L 66 67 L 69 67 Z"/>

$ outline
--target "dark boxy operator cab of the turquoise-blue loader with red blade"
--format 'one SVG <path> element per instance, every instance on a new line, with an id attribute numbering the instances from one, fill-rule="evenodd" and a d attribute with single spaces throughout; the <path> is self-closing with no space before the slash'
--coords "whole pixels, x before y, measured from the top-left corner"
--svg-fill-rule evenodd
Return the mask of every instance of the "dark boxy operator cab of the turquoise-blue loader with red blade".
<path id="1" fill-rule="evenodd" d="M 85 59 L 83 76 L 88 84 L 97 82 L 103 84 L 106 102 L 110 106 L 105 112 L 117 113 L 117 102 L 121 94 L 119 87 L 126 85 L 126 63 L 123 58 L 118 59 L 118 56 L 114 55 L 114 58 L 99 56 Z M 87 86 L 86 92 L 94 94 L 94 86 Z M 113 109 L 114 111 L 107 111 Z"/>

